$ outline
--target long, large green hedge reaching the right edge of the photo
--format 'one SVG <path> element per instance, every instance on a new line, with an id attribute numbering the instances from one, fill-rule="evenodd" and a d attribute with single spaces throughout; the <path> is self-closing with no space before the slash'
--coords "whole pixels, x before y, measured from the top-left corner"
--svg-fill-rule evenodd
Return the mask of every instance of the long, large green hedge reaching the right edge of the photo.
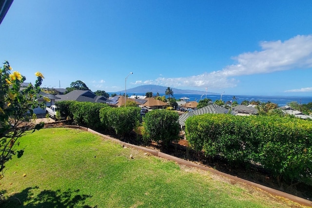
<path id="1" fill-rule="evenodd" d="M 203 114 L 185 122 L 186 138 L 206 156 L 255 162 L 277 179 L 312 185 L 312 122 L 280 116 Z"/>

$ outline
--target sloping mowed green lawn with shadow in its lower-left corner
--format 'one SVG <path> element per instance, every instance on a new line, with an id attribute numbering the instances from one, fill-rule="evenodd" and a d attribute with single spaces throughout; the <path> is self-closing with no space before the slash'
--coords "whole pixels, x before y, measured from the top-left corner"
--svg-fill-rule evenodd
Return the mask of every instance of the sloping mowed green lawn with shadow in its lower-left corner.
<path id="1" fill-rule="evenodd" d="M 301 207 L 81 130 L 42 129 L 23 136 L 20 148 L 24 155 L 6 163 L 0 180 L 10 197 L 3 208 Z"/>

